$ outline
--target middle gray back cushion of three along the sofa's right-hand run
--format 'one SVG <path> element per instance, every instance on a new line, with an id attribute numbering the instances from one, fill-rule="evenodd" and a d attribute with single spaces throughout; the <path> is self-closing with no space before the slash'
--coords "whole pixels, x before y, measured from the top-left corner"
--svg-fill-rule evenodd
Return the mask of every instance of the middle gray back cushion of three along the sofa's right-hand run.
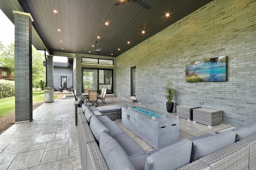
<path id="1" fill-rule="evenodd" d="M 235 142 L 235 138 L 236 133 L 229 130 L 209 137 L 192 140 L 193 145 L 190 162 L 231 145 Z"/>

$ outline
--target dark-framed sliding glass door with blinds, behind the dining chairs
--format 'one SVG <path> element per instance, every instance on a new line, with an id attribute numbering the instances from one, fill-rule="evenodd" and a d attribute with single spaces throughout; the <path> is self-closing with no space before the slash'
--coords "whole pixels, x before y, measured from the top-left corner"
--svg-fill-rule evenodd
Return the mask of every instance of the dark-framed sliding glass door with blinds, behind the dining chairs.
<path id="1" fill-rule="evenodd" d="M 83 91 L 84 88 L 97 89 L 101 93 L 102 88 L 107 88 L 107 94 L 113 90 L 113 69 L 83 69 Z"/>

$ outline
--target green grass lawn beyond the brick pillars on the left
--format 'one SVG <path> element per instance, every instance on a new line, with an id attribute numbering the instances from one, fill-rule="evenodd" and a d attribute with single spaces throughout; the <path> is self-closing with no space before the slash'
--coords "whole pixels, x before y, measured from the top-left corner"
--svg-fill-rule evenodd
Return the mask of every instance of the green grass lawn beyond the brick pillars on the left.
<path id="1" fill-rule="evenodd" d="M 54 95 L 54 99 L 58 96 Z M 33 93 L 33 103 L 43 102 L 44 92 Z M 0 99 L 0 117 L 15 111 L 15 97 Z"/>

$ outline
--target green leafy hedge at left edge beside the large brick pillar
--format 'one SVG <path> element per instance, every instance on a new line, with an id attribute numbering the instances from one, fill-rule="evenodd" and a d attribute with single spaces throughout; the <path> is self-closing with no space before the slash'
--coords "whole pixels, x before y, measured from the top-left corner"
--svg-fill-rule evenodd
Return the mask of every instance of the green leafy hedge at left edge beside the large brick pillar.
<path id="1" fill-rule="evenodd" d="M 15 94 L 15 82 L 0 80 L 0 99 L 12 97 Z"/>

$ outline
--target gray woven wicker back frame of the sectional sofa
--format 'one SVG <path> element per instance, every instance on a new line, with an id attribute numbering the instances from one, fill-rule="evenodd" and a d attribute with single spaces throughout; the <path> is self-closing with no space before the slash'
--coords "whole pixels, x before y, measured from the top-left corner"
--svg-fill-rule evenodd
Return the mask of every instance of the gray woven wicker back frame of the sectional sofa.
<path id="1" fill-rule="evenodd" d="M 90 130 L 90 126 L 82 112 L 81 107 L 77 108 L 78 117 L 78 143 L 82 169 L 108 170 L 108 165 L 100 151 L 100 148 Z M 211 169 L 256 169 L 256 133 L 241 139 L 208 154 L 179 170 L 211 170 Z"/>

